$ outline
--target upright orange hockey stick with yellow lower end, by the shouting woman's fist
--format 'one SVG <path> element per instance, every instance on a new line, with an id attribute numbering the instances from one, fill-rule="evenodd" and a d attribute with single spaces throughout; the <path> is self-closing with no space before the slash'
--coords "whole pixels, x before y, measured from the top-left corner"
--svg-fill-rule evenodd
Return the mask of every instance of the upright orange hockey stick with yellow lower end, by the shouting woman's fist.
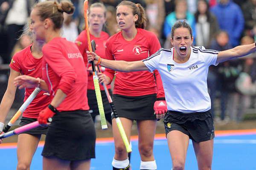
<path id="1" fill-rule="evenodd" d="M 84 1 L 84 21 L 85 21 L 85 28 L 86 28 L 86 32 L 87 32 L 87 42 L 88 42 L 88 46 L 89 46 L 89 51 L 92 52 L 87 12 L 88 12 L 88 0 L 85 0 Z M 103 103 L 102 103 L 102 96 L 101 96 L 101 92 L 100 92 L 100 88 L 99 88 L 99 79 L 97 76 L 94 62 L 91 62 L 91 64 L 92 64 L 92 69 L 93 69 L 93 83 L 94 83 L 96 99 L 97 99 L 98 108 L 99 108 L 101 126 L 102 126 L 102 129 L 108 129 L 108 125 L 107 125 L 105 113 L 104 113 L 104 108 L 103 108 Z"/>

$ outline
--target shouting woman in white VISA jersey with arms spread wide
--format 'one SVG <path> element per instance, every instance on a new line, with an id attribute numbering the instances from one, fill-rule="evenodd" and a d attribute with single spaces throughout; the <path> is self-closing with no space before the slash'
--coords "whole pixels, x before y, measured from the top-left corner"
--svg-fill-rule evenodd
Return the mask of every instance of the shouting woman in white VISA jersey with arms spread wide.
<path id="1" fill-rule="evenodd" d="M 172 157 L 172 169 L 184 170 L 189 139 L 192 139 L 199 170 L 212 166 L 214 125 L 207 92 L 210 65 L 242 57 L 256 51 L 256 44 L 241 45 L 226 51 L 191 47 L 192 29 L 186 22 L 172 27 L 170 50 L 160 48 L 142 61 L 110 61 L 87 52 L 88 61 L 117 71 L 153 71 L 157 69 L 163 81 L 168 112 L 164 117 L 166 137 Z M 98 61 L 99 60 L 99 61 Z"/>

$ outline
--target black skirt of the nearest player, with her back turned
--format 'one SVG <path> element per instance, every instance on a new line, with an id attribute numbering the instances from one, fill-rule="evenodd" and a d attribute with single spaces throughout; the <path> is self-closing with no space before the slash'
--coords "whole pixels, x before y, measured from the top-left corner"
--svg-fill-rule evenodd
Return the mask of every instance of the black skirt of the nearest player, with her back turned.
<path id="1" fill-rule="evenodd" d="M 88 111 L 56 113 L 48 127 L 42 156 L 77 161 L 95 158 L 96 133 Z"/>

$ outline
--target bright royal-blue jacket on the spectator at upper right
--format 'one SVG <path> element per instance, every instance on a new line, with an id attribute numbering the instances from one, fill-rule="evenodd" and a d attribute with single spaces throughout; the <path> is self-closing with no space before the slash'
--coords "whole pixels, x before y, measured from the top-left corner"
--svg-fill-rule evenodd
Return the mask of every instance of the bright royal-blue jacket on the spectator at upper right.
<path id="1" fill-rule="evenodd" d="M 232 0 L 220 0 L 216 6 L 212 7 L 211 11 L 215 14 L 220 28 L 229 34 L 232 46 L 239 45 L 239 39 L 244 30 L 244 17 L 241 8 Z"/>

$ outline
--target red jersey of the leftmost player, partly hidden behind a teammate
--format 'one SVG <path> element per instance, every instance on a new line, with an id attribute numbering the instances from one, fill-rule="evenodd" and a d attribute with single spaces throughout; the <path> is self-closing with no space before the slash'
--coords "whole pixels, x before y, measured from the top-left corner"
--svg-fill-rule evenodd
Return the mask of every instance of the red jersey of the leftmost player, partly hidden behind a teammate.
<path id="1" fill-rule="evenodd" d="M 10 63 L 10 68 L 13 70 L 20 72 L 23 75 L 28 75 L 31 77 L 39 77 L 42 78 L 42 61 L 43 57 L 40 59 L 36 59 L 32 56 L 31 46 L 24 48 L 23 50 L 17 52 L 13 57 Z M 32 94 L 34 88 L 25 88 L 25 97 L 26 99 Z M 37 118 L 40 111 L 49 105 L 50 97 L 43 95 L 44 91 L 40 91 L 40 93 L 33 99 L 30 105 L 23 112 L 24 117 L 28 118 Z"/>

